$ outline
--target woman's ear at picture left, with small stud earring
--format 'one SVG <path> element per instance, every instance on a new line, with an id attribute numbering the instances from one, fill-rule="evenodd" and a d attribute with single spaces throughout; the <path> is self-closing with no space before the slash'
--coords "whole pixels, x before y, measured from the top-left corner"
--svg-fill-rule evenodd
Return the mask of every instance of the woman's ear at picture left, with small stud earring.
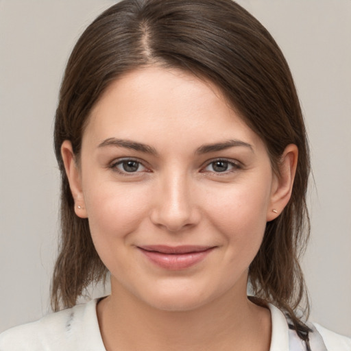
<path id="1" fill-rule="evenodd" d="M 80 218 L 87 218 L 86 206 L 82 191 L 82 179 L 80 169 L 75 162 L 71 141 L 65 140 L 61 145 L 61 155 L 64 162 L 67 178 L 69 179 L 69 187 L 74 199 L 75 214 Z"/>

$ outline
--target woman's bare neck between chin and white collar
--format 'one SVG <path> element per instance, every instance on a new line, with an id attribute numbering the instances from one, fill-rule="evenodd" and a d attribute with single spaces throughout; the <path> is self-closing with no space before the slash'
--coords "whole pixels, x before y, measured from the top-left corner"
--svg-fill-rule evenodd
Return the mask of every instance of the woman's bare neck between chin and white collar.
<path id="1" fill-rule="evenodd" d="M 250 302 L 246 291 L 230 291 L 191 311 L 162 311 L 112 285 L 97 315 L 107 351 L 269 350 L 270 313 Z"/>

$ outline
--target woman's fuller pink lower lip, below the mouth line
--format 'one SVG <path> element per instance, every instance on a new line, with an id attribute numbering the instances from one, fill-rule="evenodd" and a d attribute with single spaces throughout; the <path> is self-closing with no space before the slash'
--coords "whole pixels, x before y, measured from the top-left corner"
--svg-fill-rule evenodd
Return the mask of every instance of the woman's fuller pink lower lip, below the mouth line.
<path id="1" fill-rule="evenodd" d="M 162 252 L 147 251 L 141 252 L 156 265 L 170 270 L 186 269 L 201 262 L 210 254 L 214 247 L 200 252 L 188 252 L 185 254 L 163 254 Z"/>

